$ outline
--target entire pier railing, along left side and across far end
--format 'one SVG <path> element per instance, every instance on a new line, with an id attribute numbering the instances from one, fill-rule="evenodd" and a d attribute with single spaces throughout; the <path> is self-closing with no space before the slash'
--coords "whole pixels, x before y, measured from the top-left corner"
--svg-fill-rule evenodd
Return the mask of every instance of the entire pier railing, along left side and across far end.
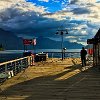
<path id="1" fill-rule="evenodd" d="M 61 58 L 62 56 L 61 52 L 43 52 L 43 53 L 46 53 L 46 58 L 48 57 Z M 80 52 L 64 52 L 63 56 L 64 58 L 80 58 Z M 11 78 L 12 76 L 15 76 L 16 74 L 28 68 L 28 66 L 34 65 L 34 61 L 36 61 L 36 55 L 35 57 L 34 55 L 32 55 L 0 63 L 0 74 L 1 74 L 0 77 L 3 77 L 2 73 L 7 73 L 9 75 L 8 78 Z"/>

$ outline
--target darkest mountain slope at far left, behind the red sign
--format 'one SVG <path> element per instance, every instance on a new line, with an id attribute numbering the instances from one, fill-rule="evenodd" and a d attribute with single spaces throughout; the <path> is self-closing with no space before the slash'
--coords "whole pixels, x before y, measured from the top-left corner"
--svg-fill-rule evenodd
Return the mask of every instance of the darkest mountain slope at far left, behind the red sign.
<path id="1" fill-rule="evenodd" d="M 0 28 L 0 44 L 3 45 L 6 50 L 18 50 L 22 49 L 22 39 Z"/>

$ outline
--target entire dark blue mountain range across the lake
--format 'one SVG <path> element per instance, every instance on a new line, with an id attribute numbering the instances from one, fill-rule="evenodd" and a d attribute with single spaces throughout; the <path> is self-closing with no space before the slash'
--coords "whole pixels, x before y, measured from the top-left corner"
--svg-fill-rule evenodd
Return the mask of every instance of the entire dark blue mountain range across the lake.
<path id="1" fill-rule="evenodd" d="M 47 37 L 36 38 L 35 49 L 61 49 L 61 41 L 51 40 Z M 0 44 L 6 50 L 21 50 L 24 49 L 23 38 L 17 37 L 14 33 L 0 28 Z M 81 49 L 82 44 L 72 43 L 69 41 L 63 42 L 63 47 L 67 49 Z M 33 49 L 33 46 L 28 46 L 28 49 Z"/>

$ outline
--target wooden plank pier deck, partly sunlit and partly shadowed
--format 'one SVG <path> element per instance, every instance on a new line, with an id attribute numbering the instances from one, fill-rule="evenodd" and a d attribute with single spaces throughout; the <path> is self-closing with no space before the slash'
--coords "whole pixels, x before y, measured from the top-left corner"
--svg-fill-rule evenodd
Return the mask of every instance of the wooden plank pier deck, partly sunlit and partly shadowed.
<path id="1" fill-rule="evenodd" d="M 100 72 L 79 59 L 49 59 L 7 80 L 0 100 L 100 100 Z"/>

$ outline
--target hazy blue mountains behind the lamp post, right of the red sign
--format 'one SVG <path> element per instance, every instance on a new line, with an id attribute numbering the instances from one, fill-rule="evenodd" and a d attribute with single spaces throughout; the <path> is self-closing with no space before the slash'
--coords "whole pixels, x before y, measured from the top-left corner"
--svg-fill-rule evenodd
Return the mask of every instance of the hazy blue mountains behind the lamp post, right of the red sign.
<path id="1" fill-rule="evenodd" d="M 81 49 L 82 44 L 72 43 L 68 41 L 64 41 L 63 47 L 67 49 Z M 49 38 L 39 37 L 37 38 L 37 45 L 35 46 L 37 49 L 61 49 L 61 41 L 54 41 Z"/>

